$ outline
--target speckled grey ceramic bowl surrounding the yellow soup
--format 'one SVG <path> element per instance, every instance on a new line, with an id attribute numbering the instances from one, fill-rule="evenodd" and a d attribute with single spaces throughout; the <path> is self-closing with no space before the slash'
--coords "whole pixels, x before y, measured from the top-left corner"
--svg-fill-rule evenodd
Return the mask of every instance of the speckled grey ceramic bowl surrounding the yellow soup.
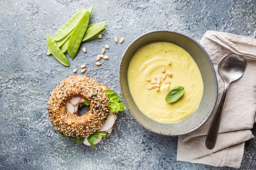
<path id="1" fill-rule="evenodd" d="M 175 124 L 161 124 L 146 117 L 136 106 L 128 87 L 127 70 L 134 53 L 150 42 L 171 42 L 185 49 L 193 57 L 202 74 L 204 92 L 199 108 L 188 118 Z M 192 38 L 174 31 L 151 31 L 139 36 L 126 49 L 119 66 L 119 88 L 121 96 L 132 117 L 150 132 L 178 136 L 201 127 L 210 117 L 218 97 L 218 82 L 213 64 L 204 48 Z"/>

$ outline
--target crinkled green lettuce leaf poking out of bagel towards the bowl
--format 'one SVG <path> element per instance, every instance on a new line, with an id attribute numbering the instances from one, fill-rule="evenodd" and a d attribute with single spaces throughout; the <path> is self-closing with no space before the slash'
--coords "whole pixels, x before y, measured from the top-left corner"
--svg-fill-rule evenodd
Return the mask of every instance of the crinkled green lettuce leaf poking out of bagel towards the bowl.
<path id="1" fill-rule="evenodd" d="M 114 91 L 104 90 L 107 93 L 108 101 L 110 105 L 110 112 L 118 112 L 126 109 L 126 106 L 122 104 L 120 97 Z"/>

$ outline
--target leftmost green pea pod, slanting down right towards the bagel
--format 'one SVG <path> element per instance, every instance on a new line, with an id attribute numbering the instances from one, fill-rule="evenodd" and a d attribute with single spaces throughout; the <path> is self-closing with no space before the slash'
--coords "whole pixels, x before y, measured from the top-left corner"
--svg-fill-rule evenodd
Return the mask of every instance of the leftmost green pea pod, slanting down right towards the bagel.
<path id="1" fill-rule="evenodd" d="M 49 51 L 52 55 L 64 66 L 70 66 L 70 63 L 67 60 L 67 57 L 61 52 L 61 49 L 58 47 L 54 39 L 51 35 L 48 35 L 46 39 L 46 44 L 48 46 Z"/>

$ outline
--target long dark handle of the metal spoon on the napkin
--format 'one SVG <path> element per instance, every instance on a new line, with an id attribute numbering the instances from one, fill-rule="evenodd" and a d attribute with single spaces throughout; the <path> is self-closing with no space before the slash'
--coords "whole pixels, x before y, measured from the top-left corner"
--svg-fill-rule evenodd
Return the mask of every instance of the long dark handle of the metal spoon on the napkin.
<path id="1" fill-rule="evenodd" d="M 217 112 L 213 117 L 213 121 L 211 122 L 211 126 L 210 126 L 209 131 L 206 136 L 205 145 L 206 145 L 207 149 L 213 149 L 215 147 L 217 137 L 218 137 L 218 132 L 220 129 L 220 121 L 221 121 L 221 117 L 222 117 L 222 111 L 223 111 L 223 108 L 225 105 L 228 88 L 229 88 L 229 83 L 225 83 L 224 92 L 220 99 L 220 103 L 217 108 Z"/>

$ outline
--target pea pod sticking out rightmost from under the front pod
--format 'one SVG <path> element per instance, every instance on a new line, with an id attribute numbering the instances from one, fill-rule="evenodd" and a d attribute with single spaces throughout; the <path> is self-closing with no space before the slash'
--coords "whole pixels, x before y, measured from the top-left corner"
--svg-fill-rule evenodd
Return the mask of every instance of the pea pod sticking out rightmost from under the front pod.
<path id="1" fill-rule="evenodd" d="M 105 25 L 106 21 L 99 22 L 97 24 L 90 24 L 85 32 L 85 35 L 83 36 L 82 42 L 92 38 L 94 35 L 106 29 Z"/>

